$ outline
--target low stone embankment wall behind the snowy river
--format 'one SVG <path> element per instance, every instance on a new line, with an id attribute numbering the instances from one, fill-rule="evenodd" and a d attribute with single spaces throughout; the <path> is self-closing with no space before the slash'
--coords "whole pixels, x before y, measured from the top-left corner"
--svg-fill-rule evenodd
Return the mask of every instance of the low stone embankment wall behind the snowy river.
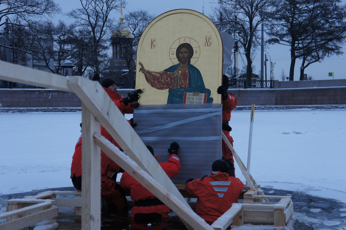
<path id="1" fill-rule="evenodd" d="M 125 96 L 130 90 L 119 89 L 118 93 Z M 237 97 L 238 105 L 340 105 L 346 104 L 346 79 L 275 81 L 274 89 L 230 88 L 228 92 Z M 54 89 L 0 89 L 0 104 L 0 107 L 81 107 L 81 100 L 74 93 Z"/>

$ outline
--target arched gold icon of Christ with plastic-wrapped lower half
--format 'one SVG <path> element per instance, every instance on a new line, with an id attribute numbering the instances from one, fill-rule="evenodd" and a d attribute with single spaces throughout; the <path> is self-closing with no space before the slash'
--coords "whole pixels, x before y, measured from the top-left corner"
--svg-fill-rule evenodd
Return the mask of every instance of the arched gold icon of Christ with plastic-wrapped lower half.
<path id="1" fill-rule="evenodd" d="M 143 89 L 134 130 L 158 162 L 179 144 L 181 169 L 174 183 L 210 173 L 221 159 L 222 40 L 214 23 L 187 9 L 155 18 L 137 47 L 136 89 Z"/>

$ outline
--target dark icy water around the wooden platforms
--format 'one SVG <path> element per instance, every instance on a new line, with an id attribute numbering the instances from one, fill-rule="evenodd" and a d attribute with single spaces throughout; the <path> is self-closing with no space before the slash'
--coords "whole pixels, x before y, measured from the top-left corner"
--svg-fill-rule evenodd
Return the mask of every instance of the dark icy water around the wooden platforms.
<path id="1" fill-rule="evenodd" d="M 291 195 L 291 199 L 294 205 L 294 225 L 295 230 L 339 230 L 346 229 L 346 216 L 342 217 L 345 211 L 346 204 L 337 200 L 331 200 L 326 198 L 314 197 L 302 192 L 286 191 L 272 188 L 262 188 L 265 194 L 270 195 Z M 68 188 L 51 188 L 45 190 L 35 190 L 26 193 L 15 193 L 8 195 L 0 195 L 0 209 L 2 212 L 6 207 L 6 200 L 24 198 L 30 195 L 36 195 L 43 191 L 49 190 L 60 190 L 60 191 L 73 191 L 73 187 Z M 269 193 L 269 191 L 274 191 Z M 242 200 L 240 200 L 241 202 Z M 60 212 L 73 213 L 73 208 L 60 208 Z M 311 211 L 313 210 L 313 211 Z M 318 210 L 318 212 L 314 212 Z M 133 223 L 131 220 L 131 210 L 128 211 L 110 211 L 107 208 L 102 208 L 101 212 L 101 224 L 102 230 L 123 230 L 123 229 L 151 229 L 151 230 L 175 230 L 175 229 L 187 229 L 184 224 L 180 221 L 174 212 L 169 213 L 169 218 L 165 222 L 152 223 L 151 226 L 147 224 Z M 312 219 L 315 222 L 306 221 Z M 305 220 L 305 221 L 304 221 Z M 74 230 L 80 229 L 80 218 L 71 218 L 69 214 L 61 214 L 57 218 L 59 223 L 59 229 Z M 316 223 L 317 222 L 317 223 Z M 1 223 L 1 221 L 0 221 Z M 325 225 L 325 223 L 327 225 Z M 338 223 L 338 224 L 336 224 Z M 33 229 L 33 228 L 29 228 Z"/>

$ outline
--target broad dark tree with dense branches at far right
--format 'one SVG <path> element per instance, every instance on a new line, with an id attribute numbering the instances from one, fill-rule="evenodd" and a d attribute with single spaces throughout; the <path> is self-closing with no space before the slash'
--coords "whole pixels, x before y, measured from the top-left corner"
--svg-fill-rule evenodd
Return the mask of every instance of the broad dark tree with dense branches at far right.
<path id="1" fill-rule="evenodd" d="M 270 43 L 290 47 L 289 80 L 293 80 L 297 58 L 302 59 L 300 80 L 304 69 L 326 56 L 340 55 L 345 41 L 346 11 L 340 0 L 281 0 L 274 6 L 275 15 L 268 15 Z"/>

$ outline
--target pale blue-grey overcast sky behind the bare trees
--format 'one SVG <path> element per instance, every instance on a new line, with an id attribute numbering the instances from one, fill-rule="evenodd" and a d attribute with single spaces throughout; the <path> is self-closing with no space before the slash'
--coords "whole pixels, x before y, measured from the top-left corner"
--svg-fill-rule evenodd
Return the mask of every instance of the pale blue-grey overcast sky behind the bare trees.
<path id="1" fill-rule="evenodd" d="M 73 8 L 80 7 L 79 0 L 55 0 L 60 4 L 63 12 L 68 12 Z M 211 14 L 211 8 L 217 7 L 218 0 L 174 0 L 174 1 L 163 1 L 163 0 L 127 0 L 127 6 L 123 9 L 123 13 L 127 13 L 128 11 L 133 11 L 137 9 L 148 10 L 149 13 L 158 16 L 166 11 L 174 10 L 174 9 L 192 9 L 198 12 L 204 10 L 204 15 L 209 16 Z M 346 0 L 343 0 L 345 3 Z M 204 7 L 203 7 L 204 6 Z M 120 17 L 120 12 L 114 12 L 113 17 Z M 63 19 L 64 21 L 68 21 L 71 19 L 67 19 L 66 16 L 57 17 Z M 126 19 L 125 19 L 126 20 Z M 265 35 L 264 35 L 265 36 Z M 264 37 L 266 39 L 266 37 Z M 346 47 L 346 45 L 345 45 Z M 346 48 L 343 49 L 346 52 Z M 240 52 L 243 52 L 243 49 L 240 49 Z M 269 49 L 265 50 L 267 55 L 270 55 L 271 61 L 276 63 L 274 66 L 274 79 L 281 80 L 282 70 L 285 75 L 289 75 L 290 69 L 290 52 L 289 48 L 283 45 L 271 45 Z M 253 64 L 256 69 L 254 70 L 255 74 L 259 73 L 261 70 L 261 52 L 258 50 L 257 55 L 253 60 Z M 244 54 L 239 54 L 239 68 L 242 65 L 246 65 L 246 59 Z M 270 79 L 269 72 L 269 61 L 267 62 L 267 79 Z M 334 79 L 346 79 L 346 71 L 344 70 L 344 66 L 346 64 L 346 55 L 343 56 L 333 56 L 330 58 L 326 58 L 322 63 L 314 63 L 305 69 L 305 74 L 308 76 L 312 76 L 314 80 L 321 79 L 333 79 L 332 77 L 328 77 L 328 72 L 334 72 Z M 294 71 L 294 80 L 299 80 L 299 67 L 301 65 L 301 60 L 297 59 L 295 63 L 295 71 Z"/>

